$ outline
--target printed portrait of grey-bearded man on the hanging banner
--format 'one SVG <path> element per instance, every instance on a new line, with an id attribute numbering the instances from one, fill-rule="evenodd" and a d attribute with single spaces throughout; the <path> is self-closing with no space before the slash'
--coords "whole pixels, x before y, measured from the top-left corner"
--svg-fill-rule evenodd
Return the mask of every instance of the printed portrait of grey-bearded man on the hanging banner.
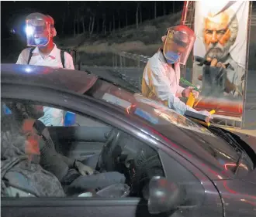
<path id="1" fill-rule="evenodd" d="M 230 49 L 237 39 L 239 25 L 236 13 L 227 8 L 217 14 L 208 12 L 203 18 L 202 40 L 206 48 L 205 59 L 212 68 L 223 68 L 227 77 L 223 96 L 241 97 L 244 92 L 244 67 L 230 55 Z M 202 80 L 203 67 L 197 67 L 198 80 Z"/>

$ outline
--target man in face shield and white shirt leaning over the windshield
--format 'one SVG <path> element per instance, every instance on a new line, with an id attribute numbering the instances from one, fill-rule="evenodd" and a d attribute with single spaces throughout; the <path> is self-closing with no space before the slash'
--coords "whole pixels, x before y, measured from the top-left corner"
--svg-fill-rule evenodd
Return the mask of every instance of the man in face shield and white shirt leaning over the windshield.
<path id="1" fill-rule="evenodd" d="M 152 56 L 144 69 L 142 94 L 152 100 L 157 100 L 165 106 L 185 114 L 186 110 L 210 116 L 208 111 L 196 111 L 183 103 L 179 97 L 199 96 L 199 92 L 189 86 L 179 86 L 180 66 L 185 65 L 192 46 L 195 33 L 185 25 L 177 25 L 167 29 L 162 36 L 163 47 Z"/>

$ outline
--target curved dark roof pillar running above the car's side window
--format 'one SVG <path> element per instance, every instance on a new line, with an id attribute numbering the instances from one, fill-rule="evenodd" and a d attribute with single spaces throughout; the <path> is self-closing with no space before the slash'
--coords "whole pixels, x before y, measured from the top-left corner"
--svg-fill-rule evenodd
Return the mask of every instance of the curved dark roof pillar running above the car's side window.
<path id="1" fill-rule="evenodd" d="M 157 131 L 154 131 L 153 128 L 150 128 L 146 125 L 141 125 L 142 122 L 137 120 L 137 118 L 130 118 L 132 121 L 128 123 L 127 121 L 123 121 L 123 115 L 105 110 L 104 108 L 106 106 L 110 109 L 119 111 L 120 113 L 124 113 L 122 109 L 107 102 L 94 99 L 93 97 L 74 93 L 69 90 L 54 90 L 52 88 L 41 86 L 24 86 L 19 84 L 13 85 L 12 83 L 4 83 L 1 87 L 2 97 L 19 100 L 33 100 L 35 102 L 36 100 L 40 100 L 41 103 L 47 103 L 56 107 L 59 105 L 61 106 L 61 109 L 65 108 L 66 110 L 74 110 L 74 112 L 78 114 L 86 114 L 88 117 L 94 117 L 97 120 L 101 120 L 103 123 L 116 126 L 116 128 L 119 128 L 121 131 L 126 131 L 130 135 L 137 137 L 139 140 L 147 142 L 151 147 L 162 148 L 164 144 L 168 148 L 171 148 L 172 151 L 181 154 L 184 158 L 188 158 L 188 155 L 184 151 L 181 151 L 177 145 L 174 145 L 166 137 L 157 133 Z M 137 123 L 140 124 L 140 128 L 137 127 Z M 148 133 L 149 131 L 153 135 L 157 133 L 157 137 L 150 135 Z M 195 166 L 198 165 L 199 168 L 202 168 L 202 162 L 199 159 L 193 159 L 192 163 L 195 164 Z M 209 173 L 208 168 L 202 169 L 203 172 L 206 173 L 210 178 L 219 179 L 212 172 Z M 222 174 L 222 177 L 234 178 L 234 174 L 227 171 L 225 174 Z"/>

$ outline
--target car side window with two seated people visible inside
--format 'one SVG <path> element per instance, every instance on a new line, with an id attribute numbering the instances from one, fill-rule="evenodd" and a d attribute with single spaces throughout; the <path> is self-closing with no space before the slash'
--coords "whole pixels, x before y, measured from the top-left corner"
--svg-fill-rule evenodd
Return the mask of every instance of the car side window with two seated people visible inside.
<path id="1" fill-rule="evenodd" d="M 46 126 L 43 105 L 2 107 L 2 197 L 142 197 L 164 176 L 157 150 L 109 124 L 69 111 L 68 124 Z"/>

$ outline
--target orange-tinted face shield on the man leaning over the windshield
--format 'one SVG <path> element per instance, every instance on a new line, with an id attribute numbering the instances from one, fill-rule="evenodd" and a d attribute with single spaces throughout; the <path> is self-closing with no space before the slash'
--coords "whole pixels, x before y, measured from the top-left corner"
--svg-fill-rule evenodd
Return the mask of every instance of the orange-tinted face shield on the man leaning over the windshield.
<path id="1" fill-rule="evenodd" d="M 195 33 L 185 25 L 168 29 L 164 42 L 164 57 L 170 64 L 185 65 L 195 42 Z"/>

